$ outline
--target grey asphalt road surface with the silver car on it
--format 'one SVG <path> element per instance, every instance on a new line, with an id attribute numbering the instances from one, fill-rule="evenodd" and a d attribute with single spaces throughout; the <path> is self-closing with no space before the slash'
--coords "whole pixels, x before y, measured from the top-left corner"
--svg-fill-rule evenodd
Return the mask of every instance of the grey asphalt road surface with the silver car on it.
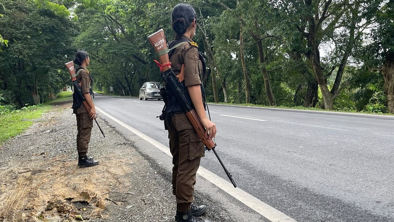
<path id="1" fill-rule="evenodd" d="M 95 104 L 168 146 L 156 118 L 163 101 L 96 94 Z M 218 130 L 216 150 L 242 190 L 299 222 L 394 222 L 394 117 L 209 109 Z M 228 180 L 212 152 L 201 166 Z"/>

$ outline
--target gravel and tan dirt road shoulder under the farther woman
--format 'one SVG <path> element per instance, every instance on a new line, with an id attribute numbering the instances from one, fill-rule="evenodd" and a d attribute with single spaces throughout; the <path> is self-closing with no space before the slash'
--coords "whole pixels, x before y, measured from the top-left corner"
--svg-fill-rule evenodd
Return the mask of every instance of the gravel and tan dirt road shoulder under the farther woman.
<path id="1" fill-rule="evenodd" d="M 0 147 L 0 221 L 174 221 L 170 173 L 106 122 L 99 120 L 106 138 L 95 126 L 89 148 L 100 164 L 78 168 L 69 106 L 55 107 Z M 208 205 L 203 218 L 233 221 L 198 190 L 195 200 Z"/>

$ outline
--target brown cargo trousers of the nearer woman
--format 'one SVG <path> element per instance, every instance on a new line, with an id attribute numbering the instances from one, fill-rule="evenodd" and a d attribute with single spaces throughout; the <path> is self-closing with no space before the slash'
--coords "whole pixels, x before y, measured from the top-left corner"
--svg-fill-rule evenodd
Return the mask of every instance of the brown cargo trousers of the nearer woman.
<path id="1" fill-rule="evenodd" d="M 197 135 L 185 113 L 175 114 L 171 122 L 164 121 L 173 156 L 172 185 L 177 198 L 178 211 L 190 211 L 194 184 L 201 157 L 205 156 L 204 143 Z"/>

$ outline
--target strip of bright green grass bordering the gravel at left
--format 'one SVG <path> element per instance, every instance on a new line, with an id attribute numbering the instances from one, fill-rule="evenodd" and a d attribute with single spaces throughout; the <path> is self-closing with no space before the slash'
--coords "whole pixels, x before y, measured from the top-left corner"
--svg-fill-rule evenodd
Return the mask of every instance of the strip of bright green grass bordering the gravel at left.
<path id="1" fill-rule="evenodd" d="M 50 111 L 53 107 L 53 103 L 71 99 L 72 92 L 63 92 L 58 94 L 58 98 L 48 101 L 44 105 L 0 115 L 0 144 L 26 130 L 33 124 L 32 120 L 39 119 L 43 113 Z"/>

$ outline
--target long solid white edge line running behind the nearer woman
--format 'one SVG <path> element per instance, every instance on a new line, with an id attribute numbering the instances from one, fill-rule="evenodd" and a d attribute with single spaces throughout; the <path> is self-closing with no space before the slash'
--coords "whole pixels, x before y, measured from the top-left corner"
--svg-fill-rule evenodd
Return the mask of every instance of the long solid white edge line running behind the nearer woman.
<path id="1" fill-rule="evenodd" d="M 170 149 L 166 147 L 165 145 L 159 143 L 158 141 L 152 139 L 151 137 L 139 132 L 139 130 L 132 128 L 128 124 L 122 122 L 119 119 L 116 119 L 115 117 L 109 115 L 108 113 L 102 111 L 98 107 L 96 109 L 102 113 L 103 115 L 106 115 L 108 118 L 114 120 L 121 126 L 125 127 L 126 129 L 130 130 L 134 134 L 138 135 L 145 141 L 151 143 L 154 145 L 157 149 L 163 151 L 165 154 L 169 155 L 172 157 Z M 250 195 L 249 193 L 243 191 L 240 188 L 234 188 L 232 184 L 223 178 L 217 176 L 216 174 L 212 173 L 211 171 L 205 169 L 204 167 L 200 166 L 197 173 L 204 177 L 206 180 L 210 181 L 211 183 L 215 184 L 217 187 L 222 189 L 223 191 L 227 192 L 234 198 L 238 199 L 241 201 L 243 204 L 248 206 L 249 208 L 253 209 L 257 213 L 261 214 L 268 220 L 272 222 L 297 222 L 293 218 L 287 216 L 286 214 L 282 213 L 281 211 L 278 211 L 277 209 L 271 207 L 270 205 L 264 203 L 260 199 L 255 198 L 254 196 Z"/>

